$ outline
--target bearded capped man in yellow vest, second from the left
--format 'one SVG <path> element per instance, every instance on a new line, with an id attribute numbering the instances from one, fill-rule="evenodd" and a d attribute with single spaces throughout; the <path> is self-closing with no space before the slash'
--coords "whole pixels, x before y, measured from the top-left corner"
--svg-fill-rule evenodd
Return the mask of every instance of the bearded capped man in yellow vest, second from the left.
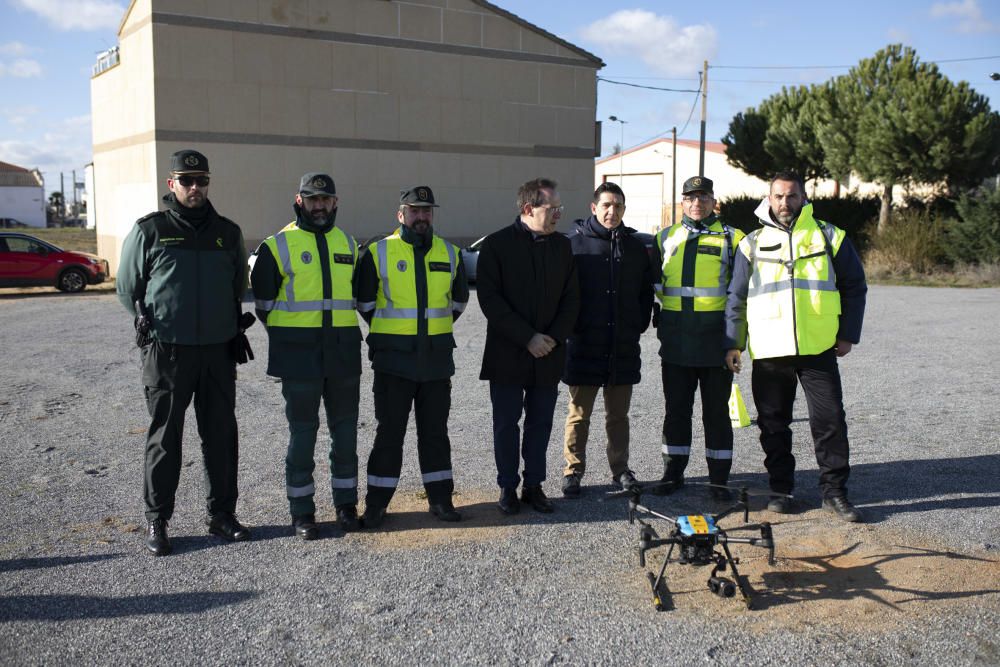
<path id="1" fill-rule="evenodd" d="M 250 274 L 267 326 L 267 373 L 281 378 L 288 419 L 285 490 L 295 534 L 319 534 L 313 469 L 319 406 L 330 431 L 337 523 L 358 528 L 358 400 L 361 329 L 354 301 L 358 246 L 334 223 L 337 191 L 326 174 L 302 177 L 295 221 L 264 240 Z"/>

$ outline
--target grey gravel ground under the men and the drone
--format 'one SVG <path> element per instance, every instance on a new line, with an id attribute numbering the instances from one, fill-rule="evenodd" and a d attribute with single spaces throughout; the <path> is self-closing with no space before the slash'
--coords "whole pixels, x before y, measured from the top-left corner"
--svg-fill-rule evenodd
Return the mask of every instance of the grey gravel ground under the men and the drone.
<path id="1" fill-rule="evenodd" d="M 1000 330 L 1000 290 L 871 289 L 864 341 L 842 361 L 851 498 L 869 521 L 847 525 L 818 509 L 800 400 L 796 492 L 807 509 L 779 517 L 754 504 L 753 518 L 774 522 L 775 566 L 760 550 L 734 547 L 753 611 L 711 595 L 706 569 L 679 565 L 667 569 L 671 609 L 654 610 L 624 502 L 600 501 L 610 480 L 599 420 L 583 498 L 558 498 L 551 515 L 499 514 L 475 299 L 457 325 L 450 420 L 462 523 L 427 514 L 411 424 L 384 530 L 339 533 L 321 472 L 324 539 L 291 537 L 282 399 L 264 374 L 256 326 L 258 359 L 237 384 L 239 515 L 254 539 L 206 535 L 189 411 L 175 554 L 159 559 L 142 548 L 147 417 L 124 310 L 109 294 L 4 295 L 0 322 L 3 664 L 1000 663 L 1000 407 L 987 347 Z M 662 470 L 652 332 L 643 349 L 632 467 L 648 479 Z M 747 375 L 739 381 L 754 416 Z M 362 478 L 374 436 L 371 378 L 366 370 Z M 556 497 L 565 410 L 564 393 L 546 482 Z M 736 433 L 734 479 L 762 485 L 755 431 Z M 696 424 L 695 481 L 706 479 L 701 434 Z M 704 491 L 691 485 L 648 504 L 715 509 Z M 651 553 L 650 567 L 661 558 Z"/>

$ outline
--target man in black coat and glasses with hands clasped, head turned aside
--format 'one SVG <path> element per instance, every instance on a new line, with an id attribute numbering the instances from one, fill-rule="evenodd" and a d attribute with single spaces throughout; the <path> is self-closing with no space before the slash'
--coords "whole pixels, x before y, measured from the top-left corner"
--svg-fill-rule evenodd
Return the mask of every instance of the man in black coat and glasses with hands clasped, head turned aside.
<path id="1" fill-rule="evenodd" d="M 520 511 L 518 457 L 524 459 L 521 500 L 551 512 L 542 491 L 545 452 L 566 339 L 576 323 L 580 287 L 569 239 L 555 234 L 562 204 L 554 181 L 537 178 L 518 190 L 519 216 L 486 237 L 479 252 L 477 294 L 486 315 L 479 377 L 489 380 L 499 507 Z M 524 439 L 518 422 L 524 414 Z"/>

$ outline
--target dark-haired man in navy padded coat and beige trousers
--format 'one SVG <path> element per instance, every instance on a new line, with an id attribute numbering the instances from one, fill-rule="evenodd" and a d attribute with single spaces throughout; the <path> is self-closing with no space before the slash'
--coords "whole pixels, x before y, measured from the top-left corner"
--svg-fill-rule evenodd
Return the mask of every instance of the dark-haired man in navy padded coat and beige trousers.
<path id="1" fill-rule="evenodd" d="M 581 299 L 562 378 L 569 385 L 562 484 L 567 498 L 580 495 L 590 419 L 602 387 L 612 482 L 621 488 L 635 484 L 628 467 L 628 410 L 632 385 L 640 379 L 639 336 L 649 327 L 656 281 L 646 248 L 633 236 L 635 230 L 622 224 L 622 189 L 602 183 L 590 212 L 573 223 L 569 234 Z"/>

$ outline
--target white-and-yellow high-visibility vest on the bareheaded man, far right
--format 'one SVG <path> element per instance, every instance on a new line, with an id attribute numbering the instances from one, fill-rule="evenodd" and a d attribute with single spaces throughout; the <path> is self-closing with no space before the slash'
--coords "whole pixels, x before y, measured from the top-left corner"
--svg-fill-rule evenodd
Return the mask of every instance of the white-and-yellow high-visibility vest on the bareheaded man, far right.
<path id="1" fill-rule="evenodd" d="M 837 342 L 840 292 L 833 257 L 845 233 L 802 207 L 791 230 L 765 226 L 739 251 L 750 260 L 747 335 L 755 359 L 820 354 Z"/>

